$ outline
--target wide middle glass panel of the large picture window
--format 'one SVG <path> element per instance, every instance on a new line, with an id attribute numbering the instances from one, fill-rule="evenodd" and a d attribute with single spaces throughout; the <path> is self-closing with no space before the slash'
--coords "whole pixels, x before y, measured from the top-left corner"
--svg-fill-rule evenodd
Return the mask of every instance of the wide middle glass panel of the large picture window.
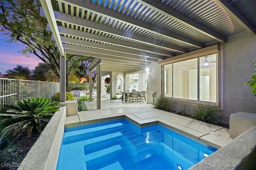
<path id="1" fill-rule="evenodd" d="M 197 100 L 197 59 L 173 64 L 173 97 Z"/>

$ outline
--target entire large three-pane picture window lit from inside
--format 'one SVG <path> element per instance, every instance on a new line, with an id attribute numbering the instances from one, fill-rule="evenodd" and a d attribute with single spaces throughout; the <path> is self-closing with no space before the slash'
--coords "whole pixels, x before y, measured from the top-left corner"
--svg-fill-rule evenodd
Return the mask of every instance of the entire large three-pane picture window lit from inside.
<path id="1" fill-rule="evenodd" d="M 164 96 L 217 102 L 217 54 L 164 65 Z"/>

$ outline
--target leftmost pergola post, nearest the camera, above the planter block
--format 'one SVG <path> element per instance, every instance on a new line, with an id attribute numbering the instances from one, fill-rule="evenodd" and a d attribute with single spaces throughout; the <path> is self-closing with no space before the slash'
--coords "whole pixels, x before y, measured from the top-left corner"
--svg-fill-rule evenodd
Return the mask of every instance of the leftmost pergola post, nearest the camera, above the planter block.
<path id="1" fill-rule="evenodd" d="M 66 52 L 60 54 L 60 102 L 66 102 Z"/>

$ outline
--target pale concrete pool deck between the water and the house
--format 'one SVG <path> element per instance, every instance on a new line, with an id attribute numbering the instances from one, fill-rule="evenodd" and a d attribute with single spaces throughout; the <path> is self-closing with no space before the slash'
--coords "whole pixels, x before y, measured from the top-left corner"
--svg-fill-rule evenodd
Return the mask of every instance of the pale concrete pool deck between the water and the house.
<path id="1" fill-rule="evenodd" d="M 126 118 L 139 127 L 159 123 L 217 149 L 233 139 L 229 137 L 229 129 L 155 109 L 145 101 L 125 103 L 120 100 L 104 100 L 102 103 L 102 109 L 80 111 L 78 115 L 66 117 L 65 127 Z M 88 102 L 86 106 L 93 108 L 94 104 L 96 105 L 96 102 Z"/>

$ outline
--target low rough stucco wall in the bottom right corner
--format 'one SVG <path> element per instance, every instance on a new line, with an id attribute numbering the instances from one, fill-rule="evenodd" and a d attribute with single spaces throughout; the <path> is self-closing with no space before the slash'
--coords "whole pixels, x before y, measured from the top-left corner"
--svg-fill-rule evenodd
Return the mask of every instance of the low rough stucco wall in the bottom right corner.
<path id="1" fill-rule="evenodd" d="M 256 127 L 233 139 L 189 170 L 255 170 Z"/>

